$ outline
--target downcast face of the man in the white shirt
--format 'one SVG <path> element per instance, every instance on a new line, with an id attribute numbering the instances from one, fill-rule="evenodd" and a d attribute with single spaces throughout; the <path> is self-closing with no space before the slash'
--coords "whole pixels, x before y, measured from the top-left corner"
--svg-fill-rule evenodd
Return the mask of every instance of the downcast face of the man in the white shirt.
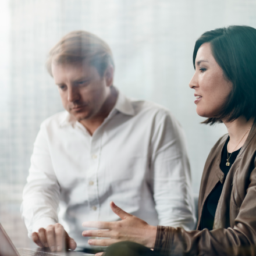
<path id="1" fill-rule="evenodd" d="M 111 72 L 110 72 L 111 73 Z M 112 77 L 104 76 L 88 63 L 53 64 L 52 75 L 61 95 L 62 105 L 78 121 L 97 118 L 109 95 Z"/>

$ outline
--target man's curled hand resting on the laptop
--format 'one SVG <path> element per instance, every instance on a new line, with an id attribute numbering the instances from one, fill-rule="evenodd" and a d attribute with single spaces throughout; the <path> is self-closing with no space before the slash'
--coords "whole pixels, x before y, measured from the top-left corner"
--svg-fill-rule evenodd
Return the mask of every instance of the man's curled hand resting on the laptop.
<path id="1" fill-rule="evenodd" d="M 64 227 L 56 223 L 49 225 L 46 229 L 41 227 L 37 232 L 32 234 L 32 239 L 39 247 L 49 247 L 51 251 L 74 250 L 76 242 L 69 237 Z"/>

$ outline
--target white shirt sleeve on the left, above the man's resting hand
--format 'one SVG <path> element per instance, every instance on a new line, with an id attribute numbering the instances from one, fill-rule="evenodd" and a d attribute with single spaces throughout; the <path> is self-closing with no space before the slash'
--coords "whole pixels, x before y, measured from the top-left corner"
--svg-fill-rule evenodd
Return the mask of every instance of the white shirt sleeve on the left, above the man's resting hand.
<path id="1" fill-rule="evenodd" d="M 58 222 L 60 187 L 56 179 L 47 143 L 44 123 L 35 139 L 27 184 L 21 207 L 29 237 L 40 227 Z"/>

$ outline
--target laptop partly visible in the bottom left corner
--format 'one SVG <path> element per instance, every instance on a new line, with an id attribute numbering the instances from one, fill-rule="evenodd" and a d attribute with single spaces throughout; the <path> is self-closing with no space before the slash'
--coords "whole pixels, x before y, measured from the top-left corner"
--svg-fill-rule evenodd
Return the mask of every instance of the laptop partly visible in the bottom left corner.
<path id="1" fill-rule="evenodd" d="M 89 256 L 79 251 L 49 251 L 47 248 L 16 248 L 0 223 L 0 256 Z"/>

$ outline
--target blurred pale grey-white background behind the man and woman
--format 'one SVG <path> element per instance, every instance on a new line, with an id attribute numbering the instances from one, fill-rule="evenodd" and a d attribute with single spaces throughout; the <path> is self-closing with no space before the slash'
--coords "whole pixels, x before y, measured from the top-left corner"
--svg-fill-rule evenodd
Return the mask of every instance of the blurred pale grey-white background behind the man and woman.
<path id="1" fill-rule="evenodd" d="M 1 0 L 0 222 L 17 247 L 29 247 L 20 216 L 22 190 L 40 123 L 62 111 L 45 69 L 49 49 L 72 30 L 110 45 L 115 86 L 176 116 L 187 136 L 193 191 L 211 147 L 226 133 L 197 116 L 189 81 L 195 40 L 217 27 L 256 28 L 255 0 Z"/>

